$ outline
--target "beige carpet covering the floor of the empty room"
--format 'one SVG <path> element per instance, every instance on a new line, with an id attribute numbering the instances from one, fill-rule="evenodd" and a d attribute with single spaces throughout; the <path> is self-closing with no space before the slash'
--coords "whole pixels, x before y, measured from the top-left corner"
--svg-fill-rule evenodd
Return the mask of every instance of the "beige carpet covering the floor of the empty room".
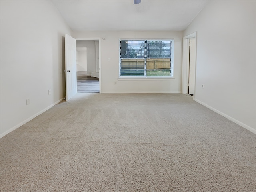
<path id="1" fill-rule="evenodd" d="M 256 191 L 256 135 L 184 94 L 77 94 L 0 142 L 3 192 Z"/>

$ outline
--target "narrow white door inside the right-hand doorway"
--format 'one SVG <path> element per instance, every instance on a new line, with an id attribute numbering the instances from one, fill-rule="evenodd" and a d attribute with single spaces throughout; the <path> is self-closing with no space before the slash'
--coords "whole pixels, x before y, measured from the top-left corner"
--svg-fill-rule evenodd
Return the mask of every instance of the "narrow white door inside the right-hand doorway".
<path id="1" fill-rule="evenodd" d="M 188 93 L 194 94 L 196 76 L 196 38 L 190 39 Z"/>

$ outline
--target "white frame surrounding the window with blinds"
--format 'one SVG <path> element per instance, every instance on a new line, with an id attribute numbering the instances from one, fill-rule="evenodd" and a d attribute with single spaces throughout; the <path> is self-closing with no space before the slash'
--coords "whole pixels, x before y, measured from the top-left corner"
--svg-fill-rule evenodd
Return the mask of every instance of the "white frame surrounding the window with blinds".
<path id="1" fill-rule="evenodd" d="M 121 59 L 126 59 L 126 58 L 121 58 L 120 57 L 120 41 L 122 40 L 127 40 L 127 41 L 171 41 L 171 46 L 170 46 L 170 50 L 171 50 L 171 54 L 170 54 L 170 76 L 121 76 Z M 147 44 L 147 43 L 146 43 Z M 147 45 L 146 45 L 146 48 L 147 48 Z M 127 58 L 129 59 L 129 58 Z M 132 59 L 132 58 L 130 58 Z M 146 71 L 147 71 L 147 59 L 148 59 L 148 55 L 144 56 L 144 74 L 146 74 Z M 173 74 L 174 74 L 174 38 L 145 38 L 145 39 L 130 39 L 130 38 L 120 38 L 119 39 L 119 64 L 118 64 L 118 68 L 119 68 L 119 78 L 118 80 L 125 80 L 125 79 L 130 79 L 130 80 L 135 80 L 135 79 L 138 79 L 138 80 L 145 80 L 145 79 L 175 79 Z"/>

